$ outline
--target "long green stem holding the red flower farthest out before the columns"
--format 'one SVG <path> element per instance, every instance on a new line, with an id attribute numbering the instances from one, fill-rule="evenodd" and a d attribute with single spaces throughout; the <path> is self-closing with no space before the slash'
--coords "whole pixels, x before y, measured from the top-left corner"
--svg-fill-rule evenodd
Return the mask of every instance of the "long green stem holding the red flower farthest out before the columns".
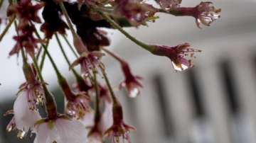
<path id="1" fill-rule="evenodd" d="M 148 45 L 142 41 L 137 40 L 132 35 L 129 35 L 125 30 L 123 30 L 116 22 L 114 22 L 109 16 L 107 16 L 105 13 L 102 13 L 101 11 L 97 11 L 100 13 L 102 17 L 104 17 L 114 28 L 117 28 L 121 33 L 123 33 L 129 40 L 132 40 L 132 42 L 135 42 L 140 47 L 143 47 L 145 50 L 148 50 L 149 52 L 154 52 L 154 46 Z"/>

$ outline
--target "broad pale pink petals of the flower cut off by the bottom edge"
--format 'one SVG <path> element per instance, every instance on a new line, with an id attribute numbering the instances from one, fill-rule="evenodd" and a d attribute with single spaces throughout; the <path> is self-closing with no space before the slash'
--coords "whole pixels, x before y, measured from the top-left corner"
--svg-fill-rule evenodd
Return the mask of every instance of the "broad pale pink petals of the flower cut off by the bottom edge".
<path id="1" fill-rule="evenodd" d="M 58 115 L 55 120 L 39 120 L 34 143 L 63 142 L 86 143 L 87 130 L 78 120 Z"/>

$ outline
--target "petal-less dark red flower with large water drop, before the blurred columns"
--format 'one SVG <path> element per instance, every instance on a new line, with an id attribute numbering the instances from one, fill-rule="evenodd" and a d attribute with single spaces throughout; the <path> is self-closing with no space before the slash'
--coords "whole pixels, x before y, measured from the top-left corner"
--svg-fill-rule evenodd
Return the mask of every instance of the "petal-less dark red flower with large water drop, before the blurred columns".
<path id="1" fill-rule="evenodd" d="M 196 50 L 193 48 L 188 48 L 191 45 L 187 42 L 176 45 L 174 47 L 169 47 L 165 45 L 156 45 L 154 55 L 165 56 L 171 59 L 174 69 L 177 71 L 183 71 L 190 67 L 194 67 L 195 64 L 191 63 L 191 59 L 185 59 L 184 56 L 194 57 L 194 52 L 201 52 L 201 50 Z"/>

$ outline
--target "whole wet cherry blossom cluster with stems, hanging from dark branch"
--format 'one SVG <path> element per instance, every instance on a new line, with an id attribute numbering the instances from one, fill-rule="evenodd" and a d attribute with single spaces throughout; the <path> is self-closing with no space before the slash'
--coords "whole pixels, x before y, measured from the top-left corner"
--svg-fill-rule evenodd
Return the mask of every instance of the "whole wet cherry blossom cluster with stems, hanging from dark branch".
<path id="1" fill-rule="evenodd" d="M 146 44 L 129 35 L 123 28 L 139 28 L 149 22 L 154 23 L 158 18 L 157 13 L 193 16 L 196 18 L 198 28 L 201 28 L 200 23 L 208 26 L 220 17 L 220 9 L 210 6 L 211 2 L 201 2 L 195 7 L 188 8 L 181 7 L 181 0 L 157 0 L 161 8 L 141 0 L 4 1 L 4 3 L 8 2 L 6 16 L 9 18 L 9 23 L 1 33 L 0 41 L 14 23 L 17 32 L 17 35 L 14 35 L 16 44 L 9 55 L 21 53 L 26 81 L 16 93 L 13 110 L 5 114 L 14 115 L 6 130 L 8 132 L 17 130 L 20 139 L 25 138 L 31 130 L 30 136 L 36 134 L 34 140 L 36 143 L 104 142 L 107 137 L 112 143 L 124 139 L 131 142 L 129 130 L 136 129 L 124 122 L 122 104 L 107 78 L 102 57 L 110 55 L 119 62 L 124 75 L 119 89 L 125 88 L 129 97 L 139 96 L 143 88 L 141 84 L 143 78 L 133 74 L 128 62 L 106 48 L 111 43 L 110 39 L 107 37 L 107 32 L 99 28 L 119 30 L 153 55 L 168 57 L 174 70 L 183 71 L 195 66 L 191 59 L 185 57 L 195 57 L 194 53 L 201 50 L 191 48 L 187 42 L 173 47 Z M 42 13 L 38 13 L 40 9 Z M 40 14 L 43 19 L 40 18 Z M 40 29 L 35 25 L 40 25 Z M 67 30 L 72 33 L 73 46 L 65 38 Z M 39 31 L 44 34 L 44 38 L 40 37 Z M 70 66 L 70 72 L 75 76 L 76 83 L 73 87 L 70 87 L 48 52 L 48 42 L 53 35 Z M 69 62 L 58 35 L 63 35 L 66 44 L 78 58 L 73 63 Z M 65 113 L 58 113 L 55 99 L 48 91 L 48 84 L 41 74 L 46 55 L 53 64 L 58 84 L 65 96 Z M 41 59 L 40 64 L 39 59 Z M 78 65 L 80 71 L 74 69 Z M 103 77 L 105 84 L 98 81 L 97 76 Z M 46 108 L 46 118 L 42 118 L 38 113 L 38 106 Z"/>

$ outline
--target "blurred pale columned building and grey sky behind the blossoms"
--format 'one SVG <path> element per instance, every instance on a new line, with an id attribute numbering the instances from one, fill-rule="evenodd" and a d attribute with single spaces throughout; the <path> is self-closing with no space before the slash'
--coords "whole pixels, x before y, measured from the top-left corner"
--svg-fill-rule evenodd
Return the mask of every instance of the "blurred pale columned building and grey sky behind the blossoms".
<path id="1" fill-rule="evenodd" d="M 183 0 L 181 6 L 200 2 Z M 203 50 L 192 59 L 196 67 L 186 71 L 174 71 L 168 58 L 151 55 L 118 31 L 109 31 L 112 45 L 108 48 L 127 59 L 134 74 L 144 77 L 141 96 L 129 98 L 124 90 L 117 92 L 125 122 L 138 130 L 131 132 L 132 142 L 256 142 L 256 1 L 212 2 L 222 11 L 210 27 L 198 29 L 192 17 L 157 13 L 160 18 L 149 27 L 125 28 L 144 42 L 172 46 L 189 42 L 191 47 Z M 0 30 L 3 28 L 1 25 Z M 0 42 L 0 142 L 33 142 L 18 141 L 16 132 L 6 132 L 12 115 L 2 116 L 13 108 L 15 93 L 24 81 L 21 57 L 7 58 L 14 46 L 11 33 L 14 31 Z M 57 43 L 50 42 L 49 46 L 62 74 L 73 84 Z M 68 52 L 68 46 L 65 48 Z M 70 61 L 75 60 L 71 52 L 68 56 Z M 123 78 L 119 63 L 110 56 L 102 61 L 112 86 L 117 86 Z M 48 59 L 44 68 L 43 76 L 63 113 L 63 95 Z"/>

